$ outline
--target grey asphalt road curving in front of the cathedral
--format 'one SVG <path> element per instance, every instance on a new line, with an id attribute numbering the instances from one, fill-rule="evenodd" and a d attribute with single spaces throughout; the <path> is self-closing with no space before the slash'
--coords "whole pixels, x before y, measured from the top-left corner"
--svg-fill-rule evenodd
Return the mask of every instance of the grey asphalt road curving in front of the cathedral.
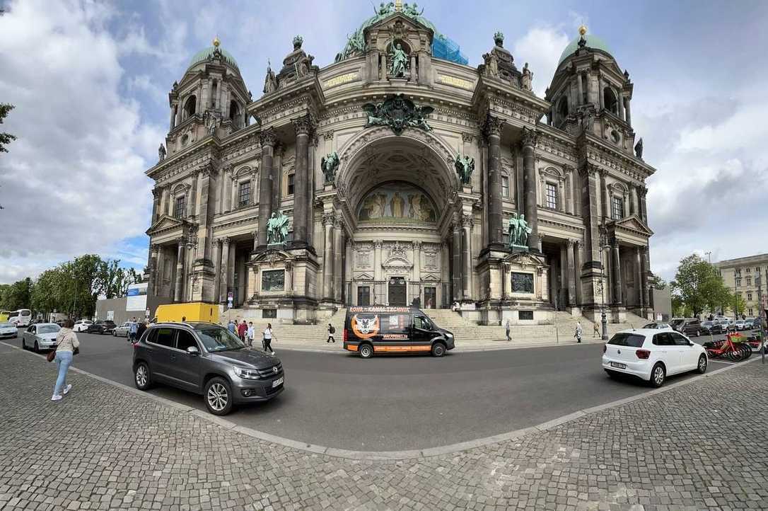
<path id="1" fill-rule="evenodd" d="M 133 347 L 123 337 L 78 333 L 74 366 L 133 385 Z M 700 339 L 706 340 L 701 337 Z M 5 340 L 21 346 L 21 338 Z M 286 390 L 227 416 L 292 440 L 349 450 L 409 450 L 535 426 L 589 406 L 645 393 L 601 369 L 602 346 L 389 356 L 280 350 Z M 712 362 L 710 369 L 724 367 Z M 695 377 L 670 377 L 670 381 Z M 53 382 L 51 382 L 51 385 Z M 204 410 L 202 398 L 170 387 L 151 393 Z"/>

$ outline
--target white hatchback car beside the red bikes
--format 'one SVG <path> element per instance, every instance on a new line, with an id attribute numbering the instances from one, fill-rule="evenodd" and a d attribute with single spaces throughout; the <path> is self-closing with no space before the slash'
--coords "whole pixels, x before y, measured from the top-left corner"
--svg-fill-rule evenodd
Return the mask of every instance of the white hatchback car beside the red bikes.
<path id="1" fill-rule="evenodd" d="M 603 347 L 603 369 L 609 376 L 630 374 L 654 387 L 667 376 L 707 372 L 707 352 L 679 332 L 638 329 L 615 333 Z"/>

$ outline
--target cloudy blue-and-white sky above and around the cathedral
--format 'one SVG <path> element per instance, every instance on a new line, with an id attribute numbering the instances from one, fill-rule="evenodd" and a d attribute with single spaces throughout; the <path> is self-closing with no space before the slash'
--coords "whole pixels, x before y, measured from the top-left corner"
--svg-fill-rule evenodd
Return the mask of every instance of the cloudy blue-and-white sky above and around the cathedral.
<path id="1" fill-rule="evenodd" d="M 543 95 L 578 25 L 611 47 L 634 81 L 632 120 L 649 180 L 653 270 L 670 278 L 697 251 L 712 260 L 768 252 L 768 2 L 438 2 L 425 16 L 470 65 L 505 33 Z M 254 97 L 267 59 L 293 35 L 320 66 L 372 14 L 326 0 L 78 2 L 0 0 L 0 283 L 95 252 L 143 267 L 151 181 L 167 92 L 219 35 Z"/>

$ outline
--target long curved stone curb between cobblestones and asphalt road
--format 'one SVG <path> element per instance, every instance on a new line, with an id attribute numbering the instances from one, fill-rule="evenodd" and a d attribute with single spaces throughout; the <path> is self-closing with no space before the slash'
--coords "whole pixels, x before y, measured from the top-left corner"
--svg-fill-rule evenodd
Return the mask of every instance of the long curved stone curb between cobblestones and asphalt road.
<path id="1" fill-rule="evenodd" d="M 4 344 L 5 346 L 11 347 L 14 350 L 20 350 L 20 351 L 23 351 L 24 353 L 29 353 L 34 357 L 41 357 L 43 360 L 45 360 L 45 357 L 39 353 L 28 352 L 28 351 L 22 350 L 21 347 L 13 346 L 12 344 L 8 344 L 2 341 L 0 341 L 0 344 Z M 286 349 L 286 348 L 283 348 L 283 349 Z M 327 352 L 323 352 L 323 353 L 327 353 Z M 723 367 L 721 369 L 713 370 L 711 373 L 710 372 L 704 373 L 702 376 L 704 378 L 709 378 L 716 374 L 736 369 L 737 367 L 743 367 L 744 365 L 755 362 L 756 360 L 760 360 L 760 358 L 759 357 L 750 358 L 750 360 L 746 360 L 745 362 L 734 363 L 733 365 Z M 70 369 L 76 373 L 80 373 L 85 376 L 94 378 L 103 383 L 113 385 L 114 387 L 119 387 L 122 390 L 126 390 L 131 394 L 141 396 L 149 400 L 154 400 L 157 403 L 168 405 L 180 412 L 190 413 L 194 416 L 197 416 L 197 418 L 201 420 L 205 420 L 209 423 L 214 423 L 217 426 L 223 427 L 225 430 L 235 431 L 237 433 L 241 433 L 243 435 L 250 436 L 258 440 L 263 440 L 265 442 L 270 442 L 270 443 L 276 443 L 280 446 L 291 447 L 297 450 L 303 450 L 308 453 L 326 454 L 328 456 L 344 458 L 347 460 L 364 460 L 364 461 L 412 460 L 412 459 L 419 459 L 419 458 L 427 458 L 430 456 L 441 456 L 444 454 L 459 453 L 461 451 L 476 449 L 478 447 L 488 446 L 493 443 L 504 442 L 506 440 L 515 440 L 531 433 L 544 433 L 548 430 L 552 430 L 558 426 L 561 426 L 564 423 L 571 422 L 571 420 L 578 420 L 583 416 L 590 415 L 591 413 L 598 413 L 611 408 L 616 408 L 618 406 L 623 406 L 628 403 L 633 403 L 634 401 L 644 400 L 644 399 L 647 399 L 648 397 L 654 397 L 660 393 L 665 393 L 670 390 L 677 389 L 678 387 L 684 387 L 685 385 L 690 385 L 690 383 L 695 383 L 697 381 L 700 381 L 699 378 L 690 378 L 688 380 L 670 383 L 668 385 L 664 385 L 664 387 L 661 387 L 659 389 L 649 390 L 647 392 L 637 394 L 636 396 L 625 397 L 624 399 L 614 400 L 614 401 L 611 401 L 610 403 L 604 403 L 598 406 L 591 406 L 589 408 L 584 408 L 583 410 L 578 410 L 573 413 L 568 413 L 567 415 L 560 416 L 552 420 L 548 420 L 547 422 L 540 423 L 535 426 L 530 426 L 530 427 L 522 428 L 519 430 L 512 430 L 507 433 L 499 433 L 498 435 L 485 436 L 484 438 L 478 438 L 476 440 L 468 440 L 465 442 L 452 443 L 446 446 L 430 447 L 430 448 L 421 449 L 421 450 L 356 451 L 356 450 L 346 450 L 346 449 L 339 449 L 336 447 L 319 446 L 312 443 L 300 442 L 298 440 L 291 440 L 289 438 L 283 438 L 282 436 L 276 436 L 270 433 L 264 433 L 263 431 L 254 430 L 253 428 L 238 426 L 236 423 L 233 423 L 226 419 L 222 419 L 219 416 L 211 415 L 210 413 L 207 413 L 203 410 L 197 410 L 197 408 L 176 403 L 174 401 L 167 400 L 164 397 L 154 396 L 154 394 L 146 393 L 142 390 L 138 390 L 133 387 L 128 387 L 123 383 L 117 383 L 112 380 L 108 380 L 107 378 L 97 376 L 93 373 L 88 373 L 88 371 L 78 369 L 77 367 L 70 367 Z"/>

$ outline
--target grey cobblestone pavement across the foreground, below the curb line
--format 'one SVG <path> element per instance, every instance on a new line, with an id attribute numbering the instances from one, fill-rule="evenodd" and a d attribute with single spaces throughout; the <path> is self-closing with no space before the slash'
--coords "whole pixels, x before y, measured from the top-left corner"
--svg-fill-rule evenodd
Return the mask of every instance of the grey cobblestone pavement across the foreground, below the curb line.
<path id="1" fill-rule="evenodd" d="M 359 461 L 254 440 L 0 346 L 0 509 L 768 509 L 768 369 L 545 433 Z M 333 411 L 329 411 L 333 413 Z"/>

